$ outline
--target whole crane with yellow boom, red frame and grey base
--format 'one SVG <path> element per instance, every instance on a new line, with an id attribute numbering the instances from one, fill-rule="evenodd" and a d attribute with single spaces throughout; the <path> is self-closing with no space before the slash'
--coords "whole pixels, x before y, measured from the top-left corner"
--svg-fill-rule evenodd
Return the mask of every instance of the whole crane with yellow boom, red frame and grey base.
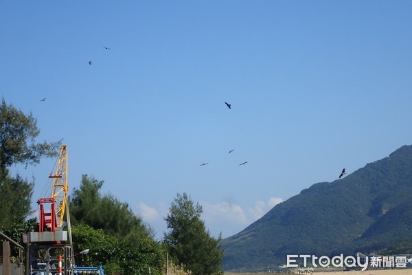
<path id="1" fill-rule="evenodd" d="M 73 275 L 101 274 L 102 267 L 76 267 L 67 194 L 67 146 L 62 145 L 58 157 L 56 173 L 50 174 L 53 180 L 52 197 L 38 199 L 38 230 L 27 234 L 29 261 L 26 275 Z M 66 217 L 66 219 L 65 219 Z M 67 231 L 62 230 L 64 222 Z"/>

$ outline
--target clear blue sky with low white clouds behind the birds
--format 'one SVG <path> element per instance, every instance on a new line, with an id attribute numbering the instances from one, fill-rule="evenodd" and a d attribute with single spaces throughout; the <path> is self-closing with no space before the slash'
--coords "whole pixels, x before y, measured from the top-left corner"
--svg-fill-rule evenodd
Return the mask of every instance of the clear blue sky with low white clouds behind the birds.
<path id="1" fill-rule="evenodd" d="M 411 144 L 411 13 L 411 1 L 1 1 L 0 94 L 33 113 L 39 141 L 63 138 L 70 189 L 104 180 L 159 238 L 187 192 L 227 237 Z M 13 168 L 35 177 L 34 207 L 55 162 Z"/>

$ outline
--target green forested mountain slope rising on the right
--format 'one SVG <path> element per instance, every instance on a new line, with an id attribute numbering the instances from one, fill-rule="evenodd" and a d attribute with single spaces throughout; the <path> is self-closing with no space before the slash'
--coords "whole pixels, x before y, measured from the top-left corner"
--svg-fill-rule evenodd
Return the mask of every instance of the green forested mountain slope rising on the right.
<path id="1" fill-rule="evenodd" d="M 411 243 L 412 146 L 402 146 L 342 179 L 302 190 L 222 240 L 223 268 L 273 270 L 288 254 L 407 252 Z"/>

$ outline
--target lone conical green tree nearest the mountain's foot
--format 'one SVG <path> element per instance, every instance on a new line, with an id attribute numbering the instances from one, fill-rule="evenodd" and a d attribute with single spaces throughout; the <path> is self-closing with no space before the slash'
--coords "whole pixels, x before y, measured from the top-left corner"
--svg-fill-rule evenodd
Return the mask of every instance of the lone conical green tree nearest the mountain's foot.
<path id="1" fill-rule="evenodd" d="M 194 275 L 222 274 L 220 239 L 210 236 L 201 220 L 202 207 L 183 193 L 177 194 L 165 218 L 170 232 L 164 243 L 176 265 L 183 264 Z"/>

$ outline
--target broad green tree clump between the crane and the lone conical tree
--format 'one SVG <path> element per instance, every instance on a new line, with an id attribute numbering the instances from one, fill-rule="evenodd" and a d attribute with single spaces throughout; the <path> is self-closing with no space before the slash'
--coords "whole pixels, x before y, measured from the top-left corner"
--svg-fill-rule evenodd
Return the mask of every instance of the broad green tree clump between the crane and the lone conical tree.
<path id="1" fill-rule="evenodd" d="M 127 203 L 100 195 L 103 183 L 83 175 L 69 204 L 75 250 L 91 250 L 79 261 L 102 264 L 108 274 L 144 274 L 149 267 L 152 274 L 161 274 L 163 248 Z"/>

